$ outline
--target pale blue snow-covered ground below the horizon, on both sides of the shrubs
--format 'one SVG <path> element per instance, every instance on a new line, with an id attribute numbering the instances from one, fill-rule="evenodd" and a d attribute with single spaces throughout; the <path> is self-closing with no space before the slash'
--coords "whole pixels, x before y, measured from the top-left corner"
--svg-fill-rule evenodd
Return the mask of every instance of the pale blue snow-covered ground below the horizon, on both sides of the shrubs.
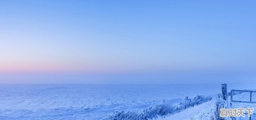
<path id="1" fill-rule="evenodd" d="M 252 84 L 250 86 L 228 84 L 228 91 L 253 88 Z M 0 85 L 0 120 L 101 120 L 111 116 L 115 111 L 140 114 L 145 109 L 162 104 L 163 101 L 178 105 L 186 96 L 188 98 L 194 98 L 198 94 L 214 96 L 220 92 L 220 84 L 2 84 Z M 166 115 L 165 118 L 184 120 L 184 117 L 179 117 L 182 114 L 189 116 L 186 117 L 189 120 L 192 118 L 192 120 L 207 120 L 208 114 L 212 113 L 212 107 L 215 107 L 213 102 L 214 100 L 211 100 L 177 114 Z"/>

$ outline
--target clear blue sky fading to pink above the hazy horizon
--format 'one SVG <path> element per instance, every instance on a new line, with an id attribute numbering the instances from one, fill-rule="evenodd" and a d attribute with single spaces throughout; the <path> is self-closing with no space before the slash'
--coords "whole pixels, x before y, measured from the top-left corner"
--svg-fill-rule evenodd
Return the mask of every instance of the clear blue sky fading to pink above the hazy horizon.
<path id="1" fill-rule="evenodd" d="M 254 0 L 0 0 L 0 83 L 254 82 Z"/>

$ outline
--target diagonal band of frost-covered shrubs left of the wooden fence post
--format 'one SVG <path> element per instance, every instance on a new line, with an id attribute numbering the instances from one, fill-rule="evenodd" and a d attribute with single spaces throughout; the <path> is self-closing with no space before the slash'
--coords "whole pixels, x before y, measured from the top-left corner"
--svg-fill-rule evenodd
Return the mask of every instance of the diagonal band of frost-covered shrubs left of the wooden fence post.
<path id="1" fill-rule="evenodd" d="M 171 103 L 162 103 L 160 105 L 150 107 L 143 110 L 138 114 L 135 112 L 114 112 L 111 116 L 108 116 L 105 120 L 148 120 L 156 118 L 157 116 L 164 116 L 167 114 L 174 114 L 180 112 L 183 109 L 194 107 L 204 102 L 212 100 L 212 96 L 197 95 L 193 99 L 186 97 L 178 106 Z"/>

